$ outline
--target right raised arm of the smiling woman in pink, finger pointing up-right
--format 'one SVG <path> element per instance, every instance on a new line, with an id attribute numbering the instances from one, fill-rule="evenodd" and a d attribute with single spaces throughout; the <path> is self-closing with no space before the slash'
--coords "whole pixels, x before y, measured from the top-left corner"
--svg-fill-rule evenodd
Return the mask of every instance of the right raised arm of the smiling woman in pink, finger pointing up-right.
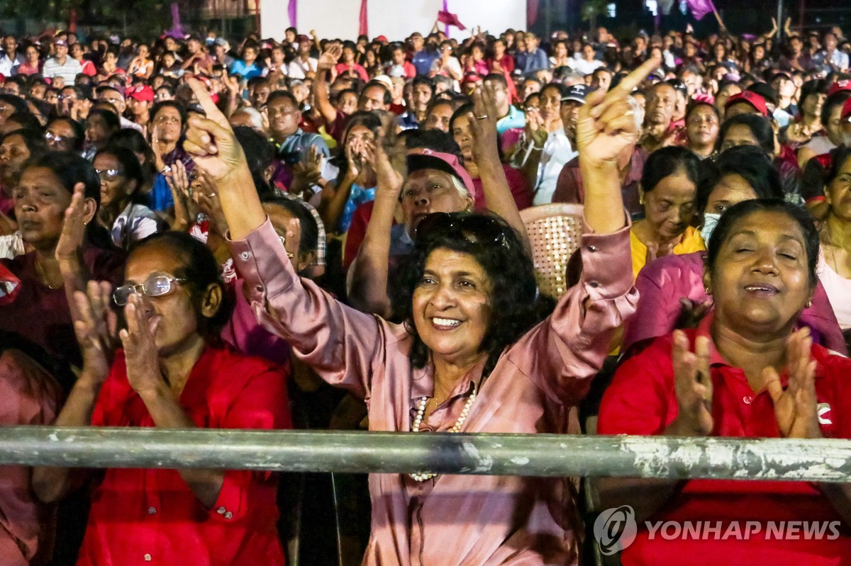
<path id="1" fill-rule="evenodd" d="M 523 337 L 517 358 L 554 399 L 579 400 L 597 374 L 615 329 L 635 312 L 629 224 L 620 196 L 617 157 L 636 143 L 627 95 L 659 64 L 650 60 L 608 93 L 597 91 L 580 109 L 577 146 L 585 184 L 582 276 L 551 316 Z M 532 355 L 528 355 L 531 352 Z"/>

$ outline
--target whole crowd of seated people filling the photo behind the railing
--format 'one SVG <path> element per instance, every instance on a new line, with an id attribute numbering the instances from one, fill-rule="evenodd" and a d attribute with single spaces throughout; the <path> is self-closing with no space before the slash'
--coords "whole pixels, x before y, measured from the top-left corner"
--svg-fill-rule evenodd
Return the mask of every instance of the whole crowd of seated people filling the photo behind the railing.
<path id="1" fill-rule="evenodd" d="M 3 37 L 0 424 L 851 439 L 851 42 L 778 31 Z M 313 480 L 6 467 L 0 563 L 587 559 L 571 478 Z M 840 525 L 624 564 L 851 563 L 848 484 L 595 489 Z"/>

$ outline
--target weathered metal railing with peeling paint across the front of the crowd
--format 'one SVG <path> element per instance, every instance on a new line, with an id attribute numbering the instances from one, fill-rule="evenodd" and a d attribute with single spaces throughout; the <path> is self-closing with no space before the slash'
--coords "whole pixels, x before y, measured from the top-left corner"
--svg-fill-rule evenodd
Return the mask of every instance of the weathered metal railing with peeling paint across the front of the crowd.
<path id="1" fill-rule="evenodd" d="M 851 440 L 0 427 L 0 465 L 851 481 Z"/>

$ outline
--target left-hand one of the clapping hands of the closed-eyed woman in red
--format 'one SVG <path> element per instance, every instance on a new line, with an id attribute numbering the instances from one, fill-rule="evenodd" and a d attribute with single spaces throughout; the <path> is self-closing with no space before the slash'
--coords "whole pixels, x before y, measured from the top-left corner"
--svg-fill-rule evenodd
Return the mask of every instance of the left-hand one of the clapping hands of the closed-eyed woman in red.
<path id="1" fill-rule="evenodd" d="M 714 426 L 709 338 L 697 337 L 692 352 L 685 332 L 674 331 L 671 362 L 678 412 L 668 432 L 677 436 L 708 436 Z"/>

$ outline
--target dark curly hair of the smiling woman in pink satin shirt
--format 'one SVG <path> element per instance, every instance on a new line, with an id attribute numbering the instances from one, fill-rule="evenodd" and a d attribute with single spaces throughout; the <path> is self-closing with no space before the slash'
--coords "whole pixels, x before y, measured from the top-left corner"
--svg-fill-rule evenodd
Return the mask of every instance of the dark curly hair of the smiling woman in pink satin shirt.
<path id="1" fill-rule="evenodd" d="M 481 350 L 488 354 L 483 376 L 494 370 L 497 360 L 517 339 L 552 312 L 555 301 L 538 292 L 532 258 L 520 235 L 499 216 L 489 212 L 451 212 L 453 227 L 434 230 L 417 238 L 412 252 L 400 266 L 391 291 L 393 320 L 401 320 L 414 337 L 409 359 L 416 368 L 425 367 L 431 353 L 414 325 L 414 290 L 426 269 L 426 261 L 438 248 L 462 252 L 481 265 L 491 283 L 488 331 Z M 502 233 L 501 243 L 487 243 L 465 228 L 471 218 L 492 218 Z M 422 225 L 422 224 L 420 224 Z"/>

